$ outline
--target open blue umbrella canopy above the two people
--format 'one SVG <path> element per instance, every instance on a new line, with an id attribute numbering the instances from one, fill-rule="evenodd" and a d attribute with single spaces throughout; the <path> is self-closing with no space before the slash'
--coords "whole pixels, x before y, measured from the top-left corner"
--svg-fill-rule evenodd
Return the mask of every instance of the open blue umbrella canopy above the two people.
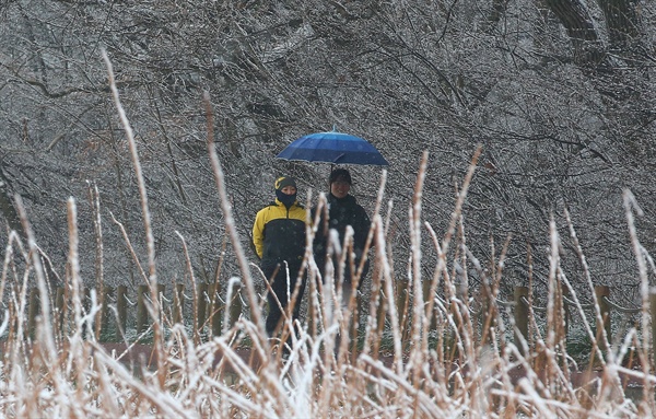
<path id="1" fill-rule="evenodd" d="M 343 132 L 315 132 L 289 144 L 277 159 L 387 166 L 387 160 L 368 141 Z"/>

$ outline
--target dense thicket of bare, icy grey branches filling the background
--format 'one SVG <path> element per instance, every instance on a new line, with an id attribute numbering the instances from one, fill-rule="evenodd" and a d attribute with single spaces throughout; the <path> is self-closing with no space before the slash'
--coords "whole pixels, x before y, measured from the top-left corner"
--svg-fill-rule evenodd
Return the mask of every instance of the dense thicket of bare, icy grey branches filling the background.
<path id="1" fill-rule="evenodd" d="M 15 0 L 0 5 L 0 21 L 2 219 L 21 230 L 20 195 L 39 246 L 65 260 L 66 199 L 87 202 L 97 186 L 109 282 L 140 280 L 126 264 L 120 228 L 139 248 L 143 223 L 103 49 L 134 128 L 167 280 L 185 278 L 176 231 L 199 278 L 210 280 L 222 252 L 232 252 L 204 150 L 203 91 L 243 237 L 276 175 L 295 175 L 302 195 L 326 189 L 329 166 L 274 155 L 336 126 L 390 162 L 385 199 L 395 208 L 398 275 L 422 152 L 430 153 L 423 217 L 438 230 L 477 144 L 483 154 L 464 208 L 466 236 L 485 260 L 512 235 L 505 286 L 526 281 L 530 248 L 546 287 L 548 264 L 539 261 L 549 255 L 549 219 L 565 229 L 566 207 L 594 281 L 635 290 L 625 187 L 643 205 L 639 231 L 653 251 L 649 3 Z M 371 210 L 379 172 L 352 170 L 355 195 Z M 93 246 L 92 205 L 79 212 L 81 240 Z M 563 269 L 576 282 L 581 266 L 570 254 Z M 97 252 L 81 256 L 92 281 Z M 238 271 L 232 259 L 225 275 Z M 54 265 L 57 280 L 63 265 Z"/>

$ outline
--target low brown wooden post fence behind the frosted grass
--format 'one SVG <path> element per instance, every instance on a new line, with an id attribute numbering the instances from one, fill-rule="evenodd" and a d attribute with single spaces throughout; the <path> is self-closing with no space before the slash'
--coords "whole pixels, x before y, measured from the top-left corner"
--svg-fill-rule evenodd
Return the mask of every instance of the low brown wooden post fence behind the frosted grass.
<path id="1" fill-rule="evenodd" d="M 401 327 L 403 328 L 401 333 L 402 336 L 405 336 L 405 331 L 409 329 L 408 325 L 411 316 L 411 307 L 409 306 L 407 284 L 403 286 L 402 282 L 403 281 L 399 281 L 399 283 L 396 286 L 397 301 L 395 303 L 397 305 L 399 318 L 401 319 Z M 174 324 L 183 323 L 183 321 L 185 321 L 184 323 L 186 324 L 191 323 L 194 327 L 195 339 L 199 339 L 202 330 L 204 330 L 206 335 L 220 335 L 224 319 L 227 319 L 230 324 L 226 326 L 230 326 L 236 322 L 243 311 L 238 284 L 235 284 L 232 292 L 229 293 L 232 295 L 231 301 L 229 302 L 222 300 L 220 295 L 221 290 L 216 289 L 215 286 L 208 283 L 198 284 L 196 290 L 186 290 L 185 286 L 181 283 L 175 284 L 171 293 L 172 296 L 168 299 L 165 296 L 165 286 L 160 284 L 157 286 L 157 289 L 161 302 L 160 305 L 163 307 L 163 312 L 165 314 L 164 318 L 167 318 L 168 322 L 173 322 Z M 65 304 L 65 301 L 68 301 L 68 298 L 66 292 L 67 291 L 63 288 L 58 288 L 55 293 L 55 301 L 52 301 L 55 306 L 54 313 L 57 324 L 56 327 L 61 327 L 61 323 L 67 313 L 67 304 Z M 423 292 L 426 294 L 424 295 L 425 301 L 427 296 L 427 290 L 423 290 Z M 614 303 L 611 300 L 609 287 L 595 287 L 595 294 L 602 319 L 602 324 L 598 324 L 599 322 L 596 321 L 597 330 L 599 330 L 599 327 L 604 327 L 608 340 L 611 341 L 611 313 L 614 311 L 623 315 L 635 315 L 642 310 L 639 307 L 624 307 L 618 303 Z M 89 289 L 85 290 L 84 295 L 85 305 L 89 307 L 89 302 L 91 300 Z M 97 299 L 101 302 L 102 309 L 94 319 L 95 329 L 93 331 L 95 333 L 96 338 L 122 340 L 129 318 L 134 322 L 133 327 L 138 334 L 147 331 L 151 326 L 152 321 L 148 313 L 148 302 L 150 301 L 150 291 L 148 286 L 139 286 L 137 288 L 137 295 L 133 298 L 128 295 L 128 288 L 126 286 L 120 286 L 117 288 L 105 287 L 102 293 L 97 293 Z M 532 310 L 534 313 L 547 312 L 547 307 L 531 305 L 529 301 L 528 287 L 515 287 L 513 301 L 496 301 L 497 305 L 511 307 L 513 312 L 516 327 L 516 344 L 518 344 L 519 339 L 517 334 L 522 334 L 523 337 L 528 336 L 530 311 Z M 567 319 L 570 318 L 569 313 L 572 307 L 576 306 L 576 304 L 566 295 L 563 295 L 561 304 L 562 309 L 565 311 L 564 333 L 566 334 L 569 323 Z M 359 306 L 363 305 L 359 304 Z M 480 306 L 483 309 L 483 311 L 485 311 L 485 307 L 489 307 L 490 305 L 485 302 L 481 302 Z M 27 330 L 35 329 L 38 307 L 38 290 L 34 288 L 30 290 L 28 295 Z M 594 310 L 594 304 L 582 304 L 581 309 L 584 311 L 591 311 Z M 110 315 L 110 310 L 115 312 L 114 315 Z M 649 313 L 652 316 L 652 348 L 656 348 L 656 319 L 654 318 L 656 315 L 656 292 L 654 291 L 649 295 Z M 380 314 L 378 314 L 378 317 L 383 318 L 380 317 Z M 593 318 L 597 317 L 593 316 Z M 115 336 L 108 336 L 108 330 L 113 331 Z M 654 359 L 656 362 L 656 353 Z"/>

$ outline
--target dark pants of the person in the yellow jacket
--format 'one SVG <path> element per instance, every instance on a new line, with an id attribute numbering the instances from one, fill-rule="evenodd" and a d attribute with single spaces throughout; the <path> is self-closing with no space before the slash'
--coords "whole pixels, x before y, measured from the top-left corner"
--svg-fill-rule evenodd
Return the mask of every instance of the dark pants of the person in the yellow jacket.
<path id="1" fill-rule="evenodd" d="M 278 269 L 278 273 L 272 278 L 273 272 Z M 269 302 L 269 315 L 267 316 L 267 334 L 269 336 L 273 335 L 276 331 L 276 327 L 280 323 L 282 318 L 282 312 L 280 311 L 280 305 L 282 310 L 286 311 L 286 307 L 290 303 L 290 299 L 294 293 L 294 289 L 296 288 L 296 281 L 298 279 L 298 270 L 301 270 L 301 264 L 289 264 L 290 278 L 289 278 L 289 294 L 288 294 L 288 275 L 286 275 L 286 266 L 284 263 L 279 265 L 262 265 L 262 271 L 267 277 L 267 280 L 271 284 L 271 289 L 273 290 L 273 294 L 269 292 L 267 294 L 267 300 Z M 301 279 L 301 288 L 298 289 L 298 294 L 296 295 L 296 301 L 292 311 L 292 318 L 297 319 L 298 314 L 301 312 L 301 299 L 303 298 L 303 292 L 305 291 L 305 278 L 306 275 L 303 273 Z"/>

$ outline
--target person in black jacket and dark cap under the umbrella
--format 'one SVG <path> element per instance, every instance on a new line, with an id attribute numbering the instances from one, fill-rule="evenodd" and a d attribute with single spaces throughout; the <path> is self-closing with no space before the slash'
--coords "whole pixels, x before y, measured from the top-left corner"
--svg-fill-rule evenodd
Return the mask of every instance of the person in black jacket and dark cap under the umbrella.
<path id="1" fill-rule="evenodd" d="M 347 230 L 347 225 L 351 225 L 353 228 L 353 253 L 355 258 L 354 270 L 360 266 L 360 261 L 362 260 L 362 256 L 364 253 L 364 247 L 366 244 L 366 237 L 368 235 L 371 221 L 366 211 L 362 206 L 358 203 L 355 198 L 352 195 L 349 195 L 351 190 L 351 174 L 345 168 L 336 168 L 330 173 L 330 177 L 328 178 L 328 183 L 330 185 L 330 193 L 328 194 L 328 221 L 324 220 L 321 213 L 321 220 L 319 222 L 319 226 L 317 233 L 315 235 L 314 241 L 314 257 L 317 263 L 317 267 L 319 268 L 319 272 L 321 273 L 321 278 L 325 279 L 325 269 L 327 261 L 327 233 L 328 230 L 335 229 L 339 234 L 340 243 L 343 244 L 344 233 Z M 316 207 L 313 208 L 313 214 L 316 213 Z M 333 255 L 333 267 L 336 275 L 336 283 L 339 279 L 339 258 L 337 255 Z M 347 266 L 343 272 L 343 284 L 342 290 L 344 294 L 349 294 L 349 291 L 352 288 L 352 277 L 351 277 L 351 268 L 350 268 L 351 258 L 347 257 Z M 360 280 L 358 283 L 358 289 L 362 286 L 362 279 L 366 276 L 368 271 L 368 260 L 366 260 L 364 268 L 362 270 L 362 275 L 360 276 Z"/>

